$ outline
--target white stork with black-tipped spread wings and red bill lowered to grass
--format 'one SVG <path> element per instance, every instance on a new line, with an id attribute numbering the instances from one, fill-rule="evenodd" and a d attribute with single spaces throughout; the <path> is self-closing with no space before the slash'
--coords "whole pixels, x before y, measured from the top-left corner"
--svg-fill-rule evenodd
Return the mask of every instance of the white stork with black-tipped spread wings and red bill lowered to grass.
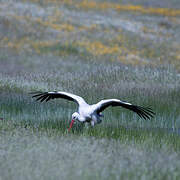
<path id="1" fill-rule="evenodd" d="M 110 106 L 124 107 L 137 113 L 140 118 L 143 119 L 150 119 L 155 115 L 151 108 L 133 105 L 119 99 L 104 99 L 99 101 L 97 104 L 89 105 L 82 97 L 63 91 L 34 92 L 31 94 L 33 94 L 33 98 L 36 98 L 36 100 L 40 102 L 47 102 L 55 98 L 63 98 L 75 102 L 78 105 L 78 111 L 72 114 L 72 121 L 69 130 L 72 128 L 75 121 L 90 123 L 92 127 L 101 123 L 101 117 L 103 117 L 102 112 Z"/>

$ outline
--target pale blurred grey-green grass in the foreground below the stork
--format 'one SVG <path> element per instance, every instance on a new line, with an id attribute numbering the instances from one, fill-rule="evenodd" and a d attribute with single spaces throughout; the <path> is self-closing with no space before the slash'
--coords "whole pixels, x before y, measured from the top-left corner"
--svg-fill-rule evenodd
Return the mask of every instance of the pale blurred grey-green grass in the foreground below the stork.
<path id="1" fill-rule="evenodd" d="M 124 134 L 124 131 L 122 131 Z M 139 133 L 137 133 L 139 134 Z M 133 135 L 133 133 L 132 133 Z M 178 179 L 179 155 L 156 134 L 136 141 L 64 134 L 32 128 L 1 130 L 1 177 L 5 179 Z M 132 136 L 133 137 L 133 136 Z M 167 137 L 167 136 L 166 136 Z M 159 139 L 159 138 L 158 138 Z M 169 138 L 168 138 L 169 140 Z M 171 139 L 172 140 L 172 139 Z"/>

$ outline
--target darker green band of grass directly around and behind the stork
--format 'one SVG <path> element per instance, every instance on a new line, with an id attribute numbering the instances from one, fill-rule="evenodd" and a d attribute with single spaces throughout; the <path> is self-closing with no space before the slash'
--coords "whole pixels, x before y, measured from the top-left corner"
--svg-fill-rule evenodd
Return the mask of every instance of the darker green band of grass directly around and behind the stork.
<path id="1" fill-rule="evenodd" d="M 168 95 L 171 98 L 171 94 Z M 173 92 L 173 95 L 174 98 L 178 97 L 178 93 L 175 96 Z M 150 147 L 161 148 L 167 145 L 179 151 L 180 137 L 176 133 L 176 130 L 179 130 L 178 120 L 176 119 L 179 111 L 175 111 L 174 108 L 177 109 L 177 107 L 173 107 L 171 104 L 169 105 L 171 108 L 164 106 L 164 102 L 161 102 L 160 99 L 161 97 L 156 99 L 159 105 L 156 109 L 155 118 L 151 120 L 141 120 L 132 112 L 112 108 L 104 113 L 103 122 L 95 128 L 87 129 L 83 125 L 76 123 L 70 134 L 119 139 L 123 143 L 126 143 L 126 141 L 134 141 L 135 144 L 149 142 L 147 145 Z M 137 99 L 134 101 L 138 102 Z M 146 101 L 150 103 L 150 100 Z M 156 103 L 151 103 L 151 106 L 156 108 Z M 52 130 L 53 135 L 54 132 L 64 135 L 67 134 L 67 128 L 69 127 L 71 114 L 75 111 L 75 106 L 63 100 L 39 103 L 31 100 L 30 94 L 8 93 L 3 94 L 3 97 L 1 96 L 1 109 L 4 118 L 2 122 L 11 124 L 10 129 L 6 126 L 8 131 L 11 131 L 12 127 L 19 126 L 34 131 L 47 131 L 50 134 Z M 3 123 L 1 124 L 2 129 L 4 128 Z"/>

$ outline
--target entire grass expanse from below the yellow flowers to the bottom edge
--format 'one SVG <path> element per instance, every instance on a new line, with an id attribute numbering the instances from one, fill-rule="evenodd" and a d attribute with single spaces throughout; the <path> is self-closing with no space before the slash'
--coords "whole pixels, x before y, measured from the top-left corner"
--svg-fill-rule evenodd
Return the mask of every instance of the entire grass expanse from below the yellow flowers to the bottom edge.
<path id="1" fill-rule="evenodd" d="M 11 72 L 7 60 L 9 73 L 0 76 L 2 178 L 178 179 L 180 98 L 173 68 L 74 57 L 19 58 L 20 74 L 15 68 Z M 120 98 L 151 106 L 156 116 L 145 121 L 128 110 L 109 108 L 95 128 L 76 123 L 68 133 L 76 105 L 61 99 L 36 102 L 29 92 L 37 90 L 70 91 L 89 103 Z"/>

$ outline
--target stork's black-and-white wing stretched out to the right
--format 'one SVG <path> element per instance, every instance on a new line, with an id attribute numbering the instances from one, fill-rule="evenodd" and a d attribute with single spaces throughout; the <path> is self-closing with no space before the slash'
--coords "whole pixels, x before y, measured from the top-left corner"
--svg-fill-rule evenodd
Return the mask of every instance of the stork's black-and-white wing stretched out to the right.
<path id="1" fill-rule="evenodd" d="M 141 118 L 150 119 L 152 118 L 155 113 L 152 111 L 151 108 L 145 108 L 141 106 L 132 105 L 130 103 L 120 101 L 119 99 L 107 99 L 101 100 L 97 103 L 96 112 L 99 114 L 100 112 L 104 111 L 109 106 L 121 106 L 131 111 L 137 113 Z"/>

